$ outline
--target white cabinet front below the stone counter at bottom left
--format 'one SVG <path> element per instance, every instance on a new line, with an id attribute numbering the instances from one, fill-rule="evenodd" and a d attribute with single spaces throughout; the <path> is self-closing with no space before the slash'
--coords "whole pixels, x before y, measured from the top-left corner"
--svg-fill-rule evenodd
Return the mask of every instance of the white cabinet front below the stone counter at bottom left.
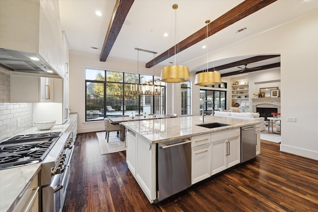
<path id="1" fill-rule="evenodd" d="M 38 175 L 36 175 L 12 211 L 39 212 L 39 189 Z"/>

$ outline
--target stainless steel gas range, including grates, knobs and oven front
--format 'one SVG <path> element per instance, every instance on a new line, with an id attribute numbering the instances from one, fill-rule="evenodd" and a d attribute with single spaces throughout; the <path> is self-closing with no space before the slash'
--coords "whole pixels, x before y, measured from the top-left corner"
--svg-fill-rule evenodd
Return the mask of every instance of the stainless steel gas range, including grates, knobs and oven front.
<path id="1" fill-rule="evenodd" d="M 0 142 L 0 170 L 41 163 L 40 209 L 62 212 L 74 151 L 71 132 L 14 136 Z"/>

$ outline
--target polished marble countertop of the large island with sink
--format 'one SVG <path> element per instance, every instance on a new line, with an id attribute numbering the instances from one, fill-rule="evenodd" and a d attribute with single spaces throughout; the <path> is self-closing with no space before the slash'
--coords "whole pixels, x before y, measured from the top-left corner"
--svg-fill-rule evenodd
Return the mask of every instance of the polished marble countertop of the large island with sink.
<path id="1" fill-rule="evenodd" d="M 204 117 L 204 124 L 214 122 L 228 124 L 229 126 L 212 129 L 196 126 L 198 124 L 202 124 L 202 116 L 187 116 L 170 119 L 123 122 L 121 124 L 152 143 L 184 139 L 191 136 L 260 124 L 259 121 L 252 120 L 242 120 L 216 116 Z"/>

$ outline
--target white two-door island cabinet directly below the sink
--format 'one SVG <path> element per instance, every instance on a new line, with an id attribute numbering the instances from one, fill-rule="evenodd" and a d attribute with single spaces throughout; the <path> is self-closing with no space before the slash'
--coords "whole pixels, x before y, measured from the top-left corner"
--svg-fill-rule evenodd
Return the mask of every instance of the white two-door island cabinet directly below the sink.
<path id="1" fill-rule="evenodd" d="M 211 134 L 211 175 L 240 163 L 240 129 Z"/>

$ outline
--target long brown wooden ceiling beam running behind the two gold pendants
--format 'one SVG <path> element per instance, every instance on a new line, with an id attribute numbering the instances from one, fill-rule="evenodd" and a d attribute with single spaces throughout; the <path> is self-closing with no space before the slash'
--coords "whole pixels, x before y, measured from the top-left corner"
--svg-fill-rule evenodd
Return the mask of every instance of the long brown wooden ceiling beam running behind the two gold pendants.
<path id="1" fill-rule="evenodd" d="M 260 10 L 261 8 L 275 2 L 276 0 L 244 0 L 239 5 L 221 15 L 219 18 L 215 19 L 209 23 L 209 36 L 221 31 L 222 29 L 230 26 L 231 24 L 241 20 L 242 18 Z M 176 46 L 175 52 L 181 52 L 190 46 L 204 40 L 206 38 L 206 27 L 201 28 L 197 32 L 193 33 L 189 37 L 185 38 L 183 41 L 179 42 Z M 162 61 L 170 58 L 174 55 L 174 46 L 166 50 L 154 60 L 151 60 L 146 64 L 146 68 L 151 68 Z"/>

